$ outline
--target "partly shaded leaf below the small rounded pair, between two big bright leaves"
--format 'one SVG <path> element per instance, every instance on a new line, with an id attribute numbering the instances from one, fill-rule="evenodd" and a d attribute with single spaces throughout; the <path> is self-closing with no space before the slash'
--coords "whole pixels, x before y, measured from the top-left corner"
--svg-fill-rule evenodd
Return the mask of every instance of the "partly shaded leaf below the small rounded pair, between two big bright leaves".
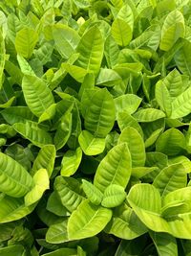
<path id="1" fill-rule="evenodd" d="M 114 210 L 112 220 L 104 231 L 121 239 L 132 240 L 146 233 L 147 228 L 138 220 L 132 208 L 123 203 Z"/>

